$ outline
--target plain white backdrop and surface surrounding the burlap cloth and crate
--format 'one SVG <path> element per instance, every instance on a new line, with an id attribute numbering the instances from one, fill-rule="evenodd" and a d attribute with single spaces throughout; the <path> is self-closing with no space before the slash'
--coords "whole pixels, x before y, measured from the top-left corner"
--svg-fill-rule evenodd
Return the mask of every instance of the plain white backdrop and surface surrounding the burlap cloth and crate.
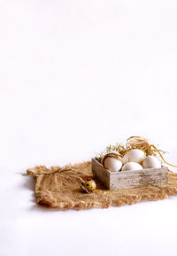
<path id="1" fill-rule="evenodd" d="M 145 136 L 177 164 L 175 0 L 0 0 L 0 255 L 176 255 L 177 199 L 35 205 L 37 164 Z"/>

